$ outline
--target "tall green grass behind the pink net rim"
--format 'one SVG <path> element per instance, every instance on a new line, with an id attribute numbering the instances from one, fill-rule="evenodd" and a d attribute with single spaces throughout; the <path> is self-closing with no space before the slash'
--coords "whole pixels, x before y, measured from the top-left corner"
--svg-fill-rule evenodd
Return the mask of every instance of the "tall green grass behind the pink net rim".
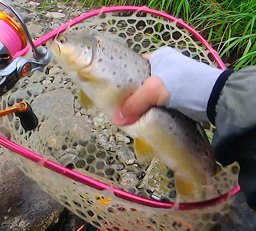
<path id="1" fill-rule="evenodd" d="M 223 61 L 239 69 L 256 65 L 256 1 L 248 0 L 82 0 L 84 6 L 136 5 L 157 9 L 197 29 Z"/>

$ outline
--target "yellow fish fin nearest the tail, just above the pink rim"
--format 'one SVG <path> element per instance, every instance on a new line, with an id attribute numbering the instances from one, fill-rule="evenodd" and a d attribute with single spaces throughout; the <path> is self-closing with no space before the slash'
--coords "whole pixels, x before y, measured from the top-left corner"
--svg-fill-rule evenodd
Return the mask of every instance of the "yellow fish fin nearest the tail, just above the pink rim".
<path id="1" fill-rule="evenodd" d="M 194 199 L 196 186 L 174 173 L 175 189 L 177 194 Z"/>

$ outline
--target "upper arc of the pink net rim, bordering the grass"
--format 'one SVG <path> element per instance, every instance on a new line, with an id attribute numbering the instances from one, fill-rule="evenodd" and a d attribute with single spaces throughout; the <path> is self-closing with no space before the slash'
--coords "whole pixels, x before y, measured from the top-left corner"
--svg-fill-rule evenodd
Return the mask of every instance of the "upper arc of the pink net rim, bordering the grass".
<path id="1" fill-rule="evenodd" d="M 77 18 L 74 18 L 73 20 L 71 20 L 70 22 L 62 25 L 60 28 L 55 29 L 54 31 L 46 34 L 45 36 L 42 36 L 41 38 L 39 38 L 38 40 L 36 40 L 34 42 L 35 46 L 39 46 L 43 43 L 46 43 L 49 39 L 52 39 L 53 37 L 55 37 L 57 34 L 62 33 L 64 31 L 66 31 L 66 29 L 68 27 L 73 27 L 73 25 L 87 19 L 93 16 L 96 16 L 98 14 L 102 14 L 102 13 L 109 13 L 109 12 L 116 12 L 116 11 L 140 11 L 143 13 L 150 13 L 150 14 L 154 14 L 160 17 L 163 17 L 165 19 L 169 19 L 171 21 L 175 21 L 177 22 L 179 25 L 181 25 L 183 28 L 185 28 L 187 31 L 189 31 L 191 34 L 193 34 L 194 36 L 197 37 L 197 39 L 202 42 L 202 44 L 209 50 L 210 54 L 214 57 L 214 59 L 216 60 L 216 62 L 218 63 L 219 67 L 222 70 L 226 70 L 226 67 L 224 65 L 224 63 L 222 62 L 222 60 L 220 59 L 219 55 L 217 54 L 217 52 L 214 50 L 214 48 L 212 48 L 210 46 L 210 44 L 203 38 L 202 35 L 200 35 L 195 29 L 191 28 L 187 23 L 185 23 L 182 19 L 176 18 L 172 15 L 166 14 L 164 12 L 158 11 L 158 10 L 154 10 L 154 9 L 150 9 L 150 8 L 146 8 L 146 7 L 136 7 L 136 6 L 115 6 L 115 7 L 104 7 L 104 8 L 100 8 L 97 10 L 93 10 L 87 13 L 84 13 L 82 15 L 80 15 Z M 17 52 L 14 56 L 14 59 L 16 57 L 19 56 L 24 56 L 28 50 L 29 50 L 30 45 L 28 45 L 27 47 L 25 47 L 23 50 L 20 50 L 19 52 Z"/>

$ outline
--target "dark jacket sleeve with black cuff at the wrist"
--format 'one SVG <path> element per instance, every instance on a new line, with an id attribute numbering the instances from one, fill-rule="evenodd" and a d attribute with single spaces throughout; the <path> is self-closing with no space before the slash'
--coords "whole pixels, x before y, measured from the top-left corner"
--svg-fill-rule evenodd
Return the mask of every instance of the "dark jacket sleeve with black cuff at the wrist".
<path id="1" fill-rule="evenodd" d="M 224 71 L 211 92 L 207 116 L 216 126 L 211 144 L 217 161 L 239 163 L 239 185 L 256 210 L 256 67 Z"/>

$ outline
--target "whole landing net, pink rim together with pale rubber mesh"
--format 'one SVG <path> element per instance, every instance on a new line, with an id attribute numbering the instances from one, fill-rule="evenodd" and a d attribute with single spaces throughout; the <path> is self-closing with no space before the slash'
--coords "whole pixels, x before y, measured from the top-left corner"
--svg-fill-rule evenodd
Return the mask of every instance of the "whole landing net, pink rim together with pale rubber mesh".
<path id="1" fill-rule="evenodd" d="M 45 43 L 67 29 L 70 33 L 75 34 L 83 34 L 89 30 L 90 34 L 112 36 L 119 41 L 121 39 L 123 43 L 138 53 L 148 52 L 163 45 L 172 46 L 199 62 L 225 69 L 215 50 L 199 33 L 182 20 L 156 10 L 127 6 L 107 7 L 91 11 L 38 39 L 35 41 L 35 46 Z M 24 56 L 28 49 L 26 47 L 20 50 L 14 57 Z M 46 68 L 50 69 L 51 67 L 58 67 L 58 64 L 52 60 Z M 27 92 L 29 87 L 35 84 L 39 90 L 51 89 L 54 92 L 58 89 L 67 89 L 74 96 L 74 114 L 80 113 L 80 115 L 87 115 L 91 118 L 95 117 L 98 113 L 96 108 L 86 111 L 85 114 L 82 112 L 82 107 L 77 100 L 77 87 L 72 81 L 66 81 L 68 76 L 65 72 L 59 71 L 55 74 L 55 79 L 52 82 L 41 81 L 47 80 L 49 76 L 48 71 L 35 72 L 30 78 L 24 78 L 27 83 L 25 86 L 22 82 L 19 83 L 17 92 Z M 60 81 L 56 80 L 57 77 L 60 77 Z M 40 90 L 39 92 L 41 93 L 24 97 L 31 103 L 47 91 Z M 17 103 L 17 99 L 12 98 L 11 92 L 3 95 L 1 107 L 7 108 L 12 100 Z M 74 121 L 75 118 L 73 116 L 71 120 Z M 41 120 L 38 129 L 27 133 L 22 127 L 15 126 L 15 119 L 15 117 L 4 118 L 4 125 L 10 131 L 11 140 L 15 143 L 0 136 L 0 144 L 6 147 L 6 151 L 13 155 L 19 167 L 42 189 L 74 214 L 101 230 L 131 231 L 137 228 L 156 231 L 209 230 L 212 225 L 221 220 L 222 216 L 229 213 L 228 208 L 232 202 L 230 196 L 240 190 L 238 185 L 239 165 L 237 163 L 225 168 L 219 165 L 221 170 L 218 173 L 218 187 L 222 195 L 206 201 L 176 204 L 169 196 L 173 188 L 167 189 L 170 191 L 167 192 L 168 196 L 165 198 L 148 192 L 147 188 L 143 186 L 142 189 L 137 186 L 125 188 L 119 184 L 119 179 L 107 177 L 109 174 L 107 170 L 112 167 L 111 163 L 113 161 L 120 162 L 115 157 L 116 150 L 112 155 L 95 139 L 82 140 L 84 142 L 81 143 L 80 139 L 83 138 L 73 137 L 70 131 L 67 133 L 57 131 L 63 137 L 53 137 L 57 141 L 60 140 L 56 147 L 57 151 L 54 151 L 55 147 L 49 146 L 50 142 L 42 138 L 42 133 L 40 133 L 42 127 L 45 126 L 49 131 L 47 137 L 54 136 L 53 130 L 51 130 L 51 124 L 56 126 L 54 122 L 50 123 L 52 121 L 48 119 Z M 91 122 L 94 131 L 102 132 L 96 122 L 94 123 L 93 120 Z M 76 125 L 81 126 L 82 124 Z M 109 122 L 104 124 L 108 128 L 111 125 Z M 66 139 L 65 136 L 69 139 Z M 84 137 L 84 139 L 86 138 Z M 124 142 L 122 145 L 127 147 Z M 76 158 L 70 160 L 68 165 L 61 165 L 60 157 L 65 155 L 68 149 L 74 150 Z M 109 157 L 112 158 L 112 162 Z M 100 165 L 98 163 L 104 165 L 99 171 L 97 170 Z M 124 170 L 134 172 L 134 174 L 141 170 L 145 172 L 148 167 L 138 165 L 131 167 L 125 163 L 121 164 L 123 164 Z M 73 168 L 70 169 L 70 166 Z M 95 171 L 89 172 L 90 168 L 91 170 L 94 168 Z M 235 173 L 234 169 L 237 169 Z M 118 171 L 114 170 L 114 173 L 119 174 Z M 165 181 L 166 178 L 168 178 L 167 175 L 162 174 L 162 180 Z"/>

